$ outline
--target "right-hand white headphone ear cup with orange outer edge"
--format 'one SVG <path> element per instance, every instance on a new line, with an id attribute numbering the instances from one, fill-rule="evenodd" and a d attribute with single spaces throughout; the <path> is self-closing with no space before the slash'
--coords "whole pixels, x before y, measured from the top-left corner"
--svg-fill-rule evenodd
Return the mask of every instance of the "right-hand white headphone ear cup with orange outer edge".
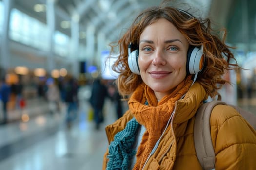
<path id="1" fill-rule="evenodd" d="M 203 52 L 195 46 L 190 46 L 187 53 L 187 74 L 197 74 L 198 72 L 202 71 L 203 66 Z"/>

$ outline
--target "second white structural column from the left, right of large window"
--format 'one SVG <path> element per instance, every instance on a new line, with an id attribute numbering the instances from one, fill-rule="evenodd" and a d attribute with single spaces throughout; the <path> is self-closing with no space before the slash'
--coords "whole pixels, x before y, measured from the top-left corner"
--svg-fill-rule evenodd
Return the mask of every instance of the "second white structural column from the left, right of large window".
<path id="1" fill-rule="evenodd" d="M 54 60 L 54 31 L 55 31 L 55 0 L 47 0 L 47 27 L 48 27 L 48 43 L 49 50 L 47 56 L 47 71 L 52 71 L 55 68 L 55 60 Z"/>

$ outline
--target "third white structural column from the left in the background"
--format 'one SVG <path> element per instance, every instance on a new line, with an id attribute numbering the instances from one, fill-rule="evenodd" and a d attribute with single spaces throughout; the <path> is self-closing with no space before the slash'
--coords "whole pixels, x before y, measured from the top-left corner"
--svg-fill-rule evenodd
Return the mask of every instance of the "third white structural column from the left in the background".
<path id="1" fill-rule="evenodd" d="M 79 15 L 73 14 L 71 19 L 71 62 L 72 74 L 75 77 L 79 76 Z"/>

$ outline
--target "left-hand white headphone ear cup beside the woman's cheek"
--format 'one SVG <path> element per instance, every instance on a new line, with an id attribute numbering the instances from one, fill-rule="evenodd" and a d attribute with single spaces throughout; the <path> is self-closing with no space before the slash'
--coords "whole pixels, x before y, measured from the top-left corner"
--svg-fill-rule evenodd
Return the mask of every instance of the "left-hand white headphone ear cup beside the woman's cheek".
<path id="1" fill-rule="evenodd" d="M 139 67 L 138 67 L 138 50 L 134 50 L 128 55 L 128 65 L 130 70 L 140 75 Z"/>

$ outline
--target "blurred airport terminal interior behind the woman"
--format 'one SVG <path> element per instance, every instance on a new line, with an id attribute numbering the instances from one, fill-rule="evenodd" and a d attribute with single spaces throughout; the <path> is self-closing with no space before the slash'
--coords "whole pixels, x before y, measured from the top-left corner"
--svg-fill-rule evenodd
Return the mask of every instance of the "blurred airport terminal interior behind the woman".
<path id="1" fill-rule="evenodd" d="M 105 126 L 118 119 L 118 76 L 107 61 L 143 9 L 162 0 L 0 0 L 0 170 L 101 170 L 108 146 Z M 195 17 L 227 29 L 227 43 L 242 68 L 225 78 L 222 100 L 256 115 L 256 1 L 173 0 Z M 187 5 L 185 5 L 187 4 Z M 196 9 L 196 10 L 193 10 Z M 108 97 L 96 125 L 89 103 L 102 77 Z M 3 85 L 4 84 L 4 85 Z M 65 85 L 77 94 L 66 102 Z M 7 92 L 7 90 L 5 90 Z M 73 92 L 73 91 L 72 91 Z M 120 102 L 122 113 L 128 106 Z M 74 108 L 72 110 L 72 108 Z"/>

